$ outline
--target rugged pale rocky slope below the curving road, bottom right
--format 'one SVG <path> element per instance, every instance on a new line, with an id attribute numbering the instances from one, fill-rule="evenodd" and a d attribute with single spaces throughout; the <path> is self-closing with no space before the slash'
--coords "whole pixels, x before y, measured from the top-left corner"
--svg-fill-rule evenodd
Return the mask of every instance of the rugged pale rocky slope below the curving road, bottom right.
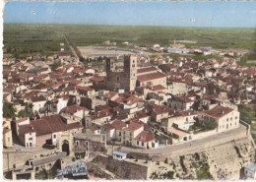
<path id="1" fill-rule="evenodd" d="M 200 152 L 180 152 L 154 158 L 153 162 L 156 164 L 151 169 L 151 178 L 167 179 L 166 174 L 171 171 L 175 174 L 174 178 L 178 179 L 237 180 L 243 174 L 243 167 L 254 161 L 255 144 L 247 137 Z M 208 167 L 202 170 L 204 165 Z"/>

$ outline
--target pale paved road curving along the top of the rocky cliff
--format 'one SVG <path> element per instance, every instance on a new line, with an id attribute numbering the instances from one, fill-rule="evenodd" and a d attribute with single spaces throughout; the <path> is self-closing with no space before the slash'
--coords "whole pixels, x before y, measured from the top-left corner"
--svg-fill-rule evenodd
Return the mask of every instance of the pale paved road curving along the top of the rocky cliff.
<path id="1" fill-rule="evenodd" d="M 149 154 L 156 154 L 156 155 L 162 155 L 162 154 L 169 154 L 171 152 L 178 152 L 182 150 L 187 150 L 187 149 L 193 149 L 196 147 L 204 146 L 206 144 L 209 144 L 210 142 L 214 141 L 224 141 L 226 143 L 226 140 L 230 136 L 234 136 L 233 139 L 235 139 L 235 136 L 239 136 L 241 133 L 246 133 L 246 127 L 243 125 L 240 125 L 239 128 L 230 130 L 228 132 L 224 132 L 221 134 L 217 134 L 211 137 L 207 137 L 204 139 L 196 140 L 196 141 L 191 141 L 187 142 L 184 144 L 179 144 L 175 146 L 167 146 L 164 148 L 158 148 L 158 149 L 151 149 L 151 150 L 141 150 L 141 149 L 132 149 L 132 148 L 126 148 L 126 147 L 121 147 L 120 151 L 122 152 L 141 152 L 141 153 L 149 153 Z M 229 140 L 232 141 L 232 140 Z"/>

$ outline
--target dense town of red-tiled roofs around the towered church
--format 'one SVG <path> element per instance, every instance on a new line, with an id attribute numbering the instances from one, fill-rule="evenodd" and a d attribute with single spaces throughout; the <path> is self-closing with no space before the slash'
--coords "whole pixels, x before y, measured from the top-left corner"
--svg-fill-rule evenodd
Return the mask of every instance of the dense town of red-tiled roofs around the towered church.
<path id="1" fill-rule="evenodd" d="M 4 57 L 6 178 L 255 179 L 256 67 L 186 41 Z"/>

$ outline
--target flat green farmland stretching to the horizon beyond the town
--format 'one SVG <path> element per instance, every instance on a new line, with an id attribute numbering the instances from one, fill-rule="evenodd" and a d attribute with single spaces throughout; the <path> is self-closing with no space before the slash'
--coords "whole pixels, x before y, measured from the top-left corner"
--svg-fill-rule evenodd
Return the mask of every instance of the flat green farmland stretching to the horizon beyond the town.
<path id="1" fill-rule="evenodd" d="M 196 40 L 189 46 L 240 48 L 252 50 L 256 44 L 254 29 L 199 29 L 170 27 L 113 27 L 79 25 L 4 25 L 4 53 L 52 53 L 59 50 L 67 34 L 77 46 L 93 45 L 105 40 L 130 41 L 138 45 L 168 45 L 174 39 Z M 66 47 L 67 48 L 67 47 Z"/>

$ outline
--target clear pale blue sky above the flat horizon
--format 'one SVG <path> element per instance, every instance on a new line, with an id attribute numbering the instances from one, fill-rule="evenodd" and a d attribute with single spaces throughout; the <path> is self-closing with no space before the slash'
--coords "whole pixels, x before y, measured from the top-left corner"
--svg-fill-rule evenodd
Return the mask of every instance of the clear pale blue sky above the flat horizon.
<path id="1" fill-rule="evenodd" d="M 4 23 L 255 28 L 255 2 L 7 2 Z"/>

